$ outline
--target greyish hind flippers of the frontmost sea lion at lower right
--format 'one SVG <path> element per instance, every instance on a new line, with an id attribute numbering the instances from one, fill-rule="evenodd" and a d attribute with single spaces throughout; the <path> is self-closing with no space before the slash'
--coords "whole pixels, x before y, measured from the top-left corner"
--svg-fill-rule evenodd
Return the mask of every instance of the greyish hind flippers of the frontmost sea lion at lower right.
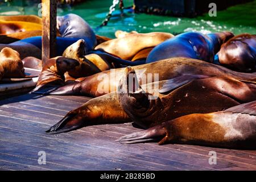
<path id="1" fill-rule="evenodd" d="M 123 144 L 152 142 L 156 139 L 164 137 L 165 135 L 166 129 L 164 127 L 164 123 L 162 123 L 144 131 L 125 135 L 115 141 Z"/>

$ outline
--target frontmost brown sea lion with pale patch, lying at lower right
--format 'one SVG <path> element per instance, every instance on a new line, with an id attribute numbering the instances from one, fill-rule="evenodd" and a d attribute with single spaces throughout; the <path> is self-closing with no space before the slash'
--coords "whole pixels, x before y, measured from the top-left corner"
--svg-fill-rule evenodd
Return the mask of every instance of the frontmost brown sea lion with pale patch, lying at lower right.
<path id="1" fill-rule="evenodd" d="M 208 114 L 189 114 L 145 131 L 121 137 L 120 143 L 183 143 L 210 147 L 254 149 L 256 101 Z"/>

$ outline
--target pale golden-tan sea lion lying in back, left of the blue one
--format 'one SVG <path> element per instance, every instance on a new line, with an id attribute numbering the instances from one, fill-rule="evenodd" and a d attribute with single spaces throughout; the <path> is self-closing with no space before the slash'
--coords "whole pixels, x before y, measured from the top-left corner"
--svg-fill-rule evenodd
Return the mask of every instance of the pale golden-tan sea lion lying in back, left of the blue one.
<path id="1" fill-rule="evenodd" d="M 131 60 L 144 48 L 155 47 L 167 39 L 174 37 L 164 32 L 151 32 L 148 34 L 129 34 L 119 39 L 109 40 L 95 47 L 95 49 L 108 52 L 124 60 Z"/>

